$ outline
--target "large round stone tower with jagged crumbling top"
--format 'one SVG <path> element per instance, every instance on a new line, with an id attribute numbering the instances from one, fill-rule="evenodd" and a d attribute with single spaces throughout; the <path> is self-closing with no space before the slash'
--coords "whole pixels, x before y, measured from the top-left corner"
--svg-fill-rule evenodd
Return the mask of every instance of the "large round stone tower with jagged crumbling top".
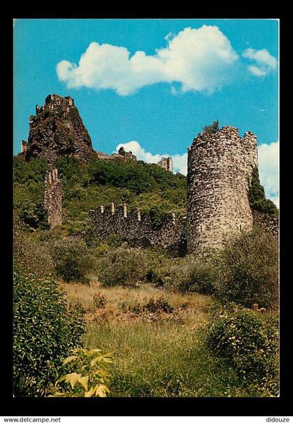
<path id="1" fill-rule="evenodd" d="M 257 165 L 257 137 L 233 126 L 202 132 L 188 147 L 188 253 L 223 246 L 225 236 L 253 228 L 249 180 Z"/>

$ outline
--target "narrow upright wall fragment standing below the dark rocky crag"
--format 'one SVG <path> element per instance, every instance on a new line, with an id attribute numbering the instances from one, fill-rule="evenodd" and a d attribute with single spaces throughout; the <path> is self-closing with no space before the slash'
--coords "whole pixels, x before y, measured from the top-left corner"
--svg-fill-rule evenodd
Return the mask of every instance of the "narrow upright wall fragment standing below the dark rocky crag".
<path id="1" fill-rule="evenodd" d="M 45 176 L 44 207 L 51 227 L 62 224 L 62 185 L 57 169 L 48 171 Z"/>

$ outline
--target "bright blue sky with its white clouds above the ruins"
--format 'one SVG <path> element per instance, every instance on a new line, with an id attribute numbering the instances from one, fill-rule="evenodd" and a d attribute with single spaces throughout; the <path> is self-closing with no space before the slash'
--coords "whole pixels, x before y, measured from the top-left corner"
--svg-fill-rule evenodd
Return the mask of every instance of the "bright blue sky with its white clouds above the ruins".
<path id="1" fill-rule="evenodd" d="M 75 99 L 96 150 L 183 173 L 204 125 L 250 130 L 278 203 L 278 20 L 15 20 L 15 154 L 49 93 Z"/>

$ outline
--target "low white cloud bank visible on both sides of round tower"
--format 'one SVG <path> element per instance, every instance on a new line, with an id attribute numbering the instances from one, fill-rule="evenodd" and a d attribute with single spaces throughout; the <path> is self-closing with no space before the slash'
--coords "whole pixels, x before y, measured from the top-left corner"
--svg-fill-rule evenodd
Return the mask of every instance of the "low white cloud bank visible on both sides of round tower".
<path id="1" fill-rule="evenodd" d="M 117 151 L 120 147 L 124 147 L 126 151 L 132 151 L 137 156 L 138 160 L 144 160 L 147 163 L 158 163 L 162 157 L 172 157 L 174 172 L 180 172 L 183 175 L 187 174 L 187 153 L 170 155 L 166 154 L 152 154 L 140 146 L 137 141 L 129 141 L 117 146 Z M 258 147 L 258 163 L 260 171 L 260 182 L 264 186 L 266 197 L 271 199 L 276 206 L 279 206 L 279 142 L 271 144 L 261 144 Z"/>

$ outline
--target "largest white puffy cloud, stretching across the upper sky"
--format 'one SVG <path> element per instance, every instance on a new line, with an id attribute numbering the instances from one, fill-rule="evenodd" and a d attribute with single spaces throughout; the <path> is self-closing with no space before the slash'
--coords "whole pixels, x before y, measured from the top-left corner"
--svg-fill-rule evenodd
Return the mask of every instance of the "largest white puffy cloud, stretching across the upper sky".
<path id="1" fill-rule="evenodd" d="M 167 47 L 153 56 L 137 51 L 131 57 L 126 47 L 93 42 L 78 66 L 59 62 L 57 75 L 68 88 L 113 89 L 119 95 L 158 82 L 179 82 L 183 92 L 212 92 L 227 84 L 238 56 L 217 26 L 186 28 L 165 40 Z"/>

